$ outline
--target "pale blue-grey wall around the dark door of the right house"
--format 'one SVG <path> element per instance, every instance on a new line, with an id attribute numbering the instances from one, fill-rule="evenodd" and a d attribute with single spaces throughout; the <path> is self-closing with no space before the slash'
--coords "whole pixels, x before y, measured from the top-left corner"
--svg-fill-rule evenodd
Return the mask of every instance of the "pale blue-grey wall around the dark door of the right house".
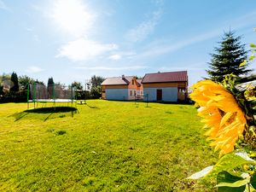
<path id="1" fill-rule="evenodd" d="M 148 94 L 148 102 L 156 101 L 156 91 L 162 90 L 162 101 L 163 102 L 177 102 L 177 87 L 158 87 L 158 88 L 144 88 L 144 101 L 147 101 Z"/>

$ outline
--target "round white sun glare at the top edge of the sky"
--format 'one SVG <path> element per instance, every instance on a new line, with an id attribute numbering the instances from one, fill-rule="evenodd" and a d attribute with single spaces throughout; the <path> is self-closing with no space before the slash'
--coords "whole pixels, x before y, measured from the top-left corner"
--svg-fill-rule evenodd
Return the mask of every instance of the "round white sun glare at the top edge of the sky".
<path id="1" fill-rule="evenodd" d="M 96 18 L 81 0 L 55 0 L 49 16 L 61 30 L 75 37 L 87 34 Z"/>

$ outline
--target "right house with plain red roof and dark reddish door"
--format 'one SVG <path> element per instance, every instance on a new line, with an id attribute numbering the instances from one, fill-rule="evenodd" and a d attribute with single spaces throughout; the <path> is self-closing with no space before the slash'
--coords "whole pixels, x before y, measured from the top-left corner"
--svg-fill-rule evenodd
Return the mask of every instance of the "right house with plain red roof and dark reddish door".
<path id="1" fill-rule="evenodd" d="M 147 73 L 143 77 L 144 101 L 178 102 L 188 97 L 188 73 Z"/>

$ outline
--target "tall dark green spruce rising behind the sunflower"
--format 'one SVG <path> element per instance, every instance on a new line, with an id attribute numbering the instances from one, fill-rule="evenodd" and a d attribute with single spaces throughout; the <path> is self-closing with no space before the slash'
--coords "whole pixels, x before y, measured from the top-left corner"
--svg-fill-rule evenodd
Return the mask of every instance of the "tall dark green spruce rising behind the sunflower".
<path id="1" fill-rule="evenodd" d="M 235 37 L 234 32 L 224 32 L 222 41 L 215 47 L 215 53 L 211 54 L 212 61 L 208 63 L 207 73 L 210 79 L 221 82 L 226 74 L 241 76 L 252 71 L 247 69 L 248 63 L 239 67 L 247 59 L 247 50 L 240 41 L 241 37 Z"/>

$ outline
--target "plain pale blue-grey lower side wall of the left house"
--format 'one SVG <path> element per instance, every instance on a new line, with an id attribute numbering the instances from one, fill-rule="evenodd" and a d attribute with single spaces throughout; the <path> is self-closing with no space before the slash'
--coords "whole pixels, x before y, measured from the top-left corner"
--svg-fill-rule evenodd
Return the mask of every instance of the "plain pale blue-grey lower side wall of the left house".
<path id="1" fill-rule="evenodd" d="M 128 94 L 127 89 L 106 89 L 107 100 L 127 100 Z"/>

